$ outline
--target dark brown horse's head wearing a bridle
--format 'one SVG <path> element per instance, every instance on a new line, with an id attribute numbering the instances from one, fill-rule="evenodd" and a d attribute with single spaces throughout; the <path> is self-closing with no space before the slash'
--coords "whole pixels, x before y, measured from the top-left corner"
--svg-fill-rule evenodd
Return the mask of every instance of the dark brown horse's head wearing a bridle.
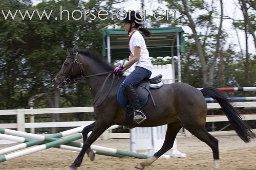
<path id="1" fill-rule="evenodd" d="M 52 80 L 52 83 L 56 88 L 61 88 L 63 85 L 69 84 L 72 79 L 82 76 L 82 63 L 78 61 L 78 46 L 74 46 L 72 50 L 68 49 L 67 51 L 68 56 L 65 62 Z"/>

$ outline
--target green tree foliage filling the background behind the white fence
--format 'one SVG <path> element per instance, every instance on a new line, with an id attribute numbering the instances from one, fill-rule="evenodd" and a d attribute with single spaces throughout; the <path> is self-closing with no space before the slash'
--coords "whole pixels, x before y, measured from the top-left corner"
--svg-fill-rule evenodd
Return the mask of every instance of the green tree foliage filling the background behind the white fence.
<path id="1" fill-rule="evenodd" d="M 90 0 L 78 6 L 74 1 L 42 1 L 36 6 L 30 0 L 0 1 L 1 10 L 7 14 L 20 10 L 25 14 L 38 9 L 53 13 L 50 19 L 34 16 L 32 19 L 17 17 L 8 19 L 0 11 L 0 109 L 29 108 L 28 100 L 36 94 L 45 93 L 35 100 L 35 108 L 92 106 L 92 96 L 86 82 L 78 82 L 60 92 L 51 86 L 51 80 L 66 58 L 66 48 L 77 44 L 82 48 L 100 53 L 102 30 L 115 27 L 121 21 L 94 19 L 86 12 L 87 19 L 72 19 L 74 10 L 101 10 L 110 14 L 117 10 L 114 5 L 122 1 Z M 182 54 L 182 81 L 195 87 L 202 86 L 255 86 L 255 54 L 237 51 L 238 46 L 227 45 L 227 32 L 221 27 L 221 1 L 166 1 L 169 9 L 180 13 L 177 20 L 151 20 L 148 26 L 189 27 L 191 33 L 185 33 L 185 53 Z M 237 1 L 246 19 L 233 20 L 233 28 L 253 35 L 255 30 L 255 3 Z M 245 3 L 245 6 L 244 6 Z M 63 19 L 59 19 L 60 6 Z M 253 12 L 254 11 L 254 12 Z M 247 13 L 247 14 L 246 14 Z M 36 13 L 35 13 L 36 15 Z M 74 12 L 79 18 L 79 12 Z M 102 16 L 103 17 L 103 16 Z M 57 19 L 55 19 L 57 18 Z M 153 17 L 152 17 L 153 18 Z M 232 18 L 229 18 L 232 19 Z M 171 60 L 157 58 L 154 63 L 171 63 Z M 177 69 L 176 69 L 177 70 Z M 253 93 L 250 93 L 253 94 Z M 249 94 L 249 95 L 250 95 Z M 68 115 L 66 115 L 66 118 Z M 69 117 L 69 120 L 84 118 L 81 114 Z M 52 117 L 52 120 L 59 119 Z M 61 117 L 60 117 L 61 119 Z"/>

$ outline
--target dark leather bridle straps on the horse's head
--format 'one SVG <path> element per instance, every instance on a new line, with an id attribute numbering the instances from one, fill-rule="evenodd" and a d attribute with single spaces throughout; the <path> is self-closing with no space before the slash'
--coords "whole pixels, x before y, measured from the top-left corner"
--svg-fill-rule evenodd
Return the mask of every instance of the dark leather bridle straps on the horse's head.
<path id="1" fill-rule="evenodd" d="M 67 84 L 71 83 L 70 77 L 71 77 L 71 73 L 73 72 L 76 63 L 78 64 L 78 66 L 79 66 L 79 68 L 80 68 L 81 77 L 84 78 L 84 76 L 83 76 L 83 71 L 82 71 L 82 70 L 83 70 L 83 67 L 81 66 L 81 65 L 83 65 L 83 64 L 78 61 L 78 51 L 77 51 L 77 49 L 76 49 L 76 55 L 75 55 L 75 57 L 72 57 L 72 56 L 69 55 L 69 56 L 67 56 L 67 58 L 73 59 L 72 66 L 70 67 L 68 74 L 65 74 L 65 73 L 62 73 L 62 72 L 58 72 L 58 73 L 57 73 L 57 79 L 60 81 L 61 84 L 65 85 L 65 86 L 66 86 Z M 63 77 L 63 80 L 61 80 L 58 75 L 63 75 L 63 76 L 65 76 L 65 77 Z"/>

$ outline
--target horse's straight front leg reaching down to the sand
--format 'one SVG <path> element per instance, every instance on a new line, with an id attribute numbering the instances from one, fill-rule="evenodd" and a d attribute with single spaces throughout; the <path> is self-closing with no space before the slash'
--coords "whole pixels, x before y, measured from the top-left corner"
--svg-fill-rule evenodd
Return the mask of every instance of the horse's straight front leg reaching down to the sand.
<path id="1" fill-rule="evenodd" d="M 82 163 L 82 159 L 84 154 L 86 153 L 87 149 L 90 148 L 91 144 L 109 127 L 111 126 L 111 124 L 106 124 L 103 122 L 99 122 L 97 120 L 92 134 L 89 136 L 89 138 L 86 141 L 83 141 L 83 146 L 82 146 L 82 150 L 80 151 L 79 155 L 77 156 L 77 158 L 75 159 L 74 163 L 72 163 L 69 167 L 69 170 L 76 170 L 77 167 L 79 167 Z"/>

